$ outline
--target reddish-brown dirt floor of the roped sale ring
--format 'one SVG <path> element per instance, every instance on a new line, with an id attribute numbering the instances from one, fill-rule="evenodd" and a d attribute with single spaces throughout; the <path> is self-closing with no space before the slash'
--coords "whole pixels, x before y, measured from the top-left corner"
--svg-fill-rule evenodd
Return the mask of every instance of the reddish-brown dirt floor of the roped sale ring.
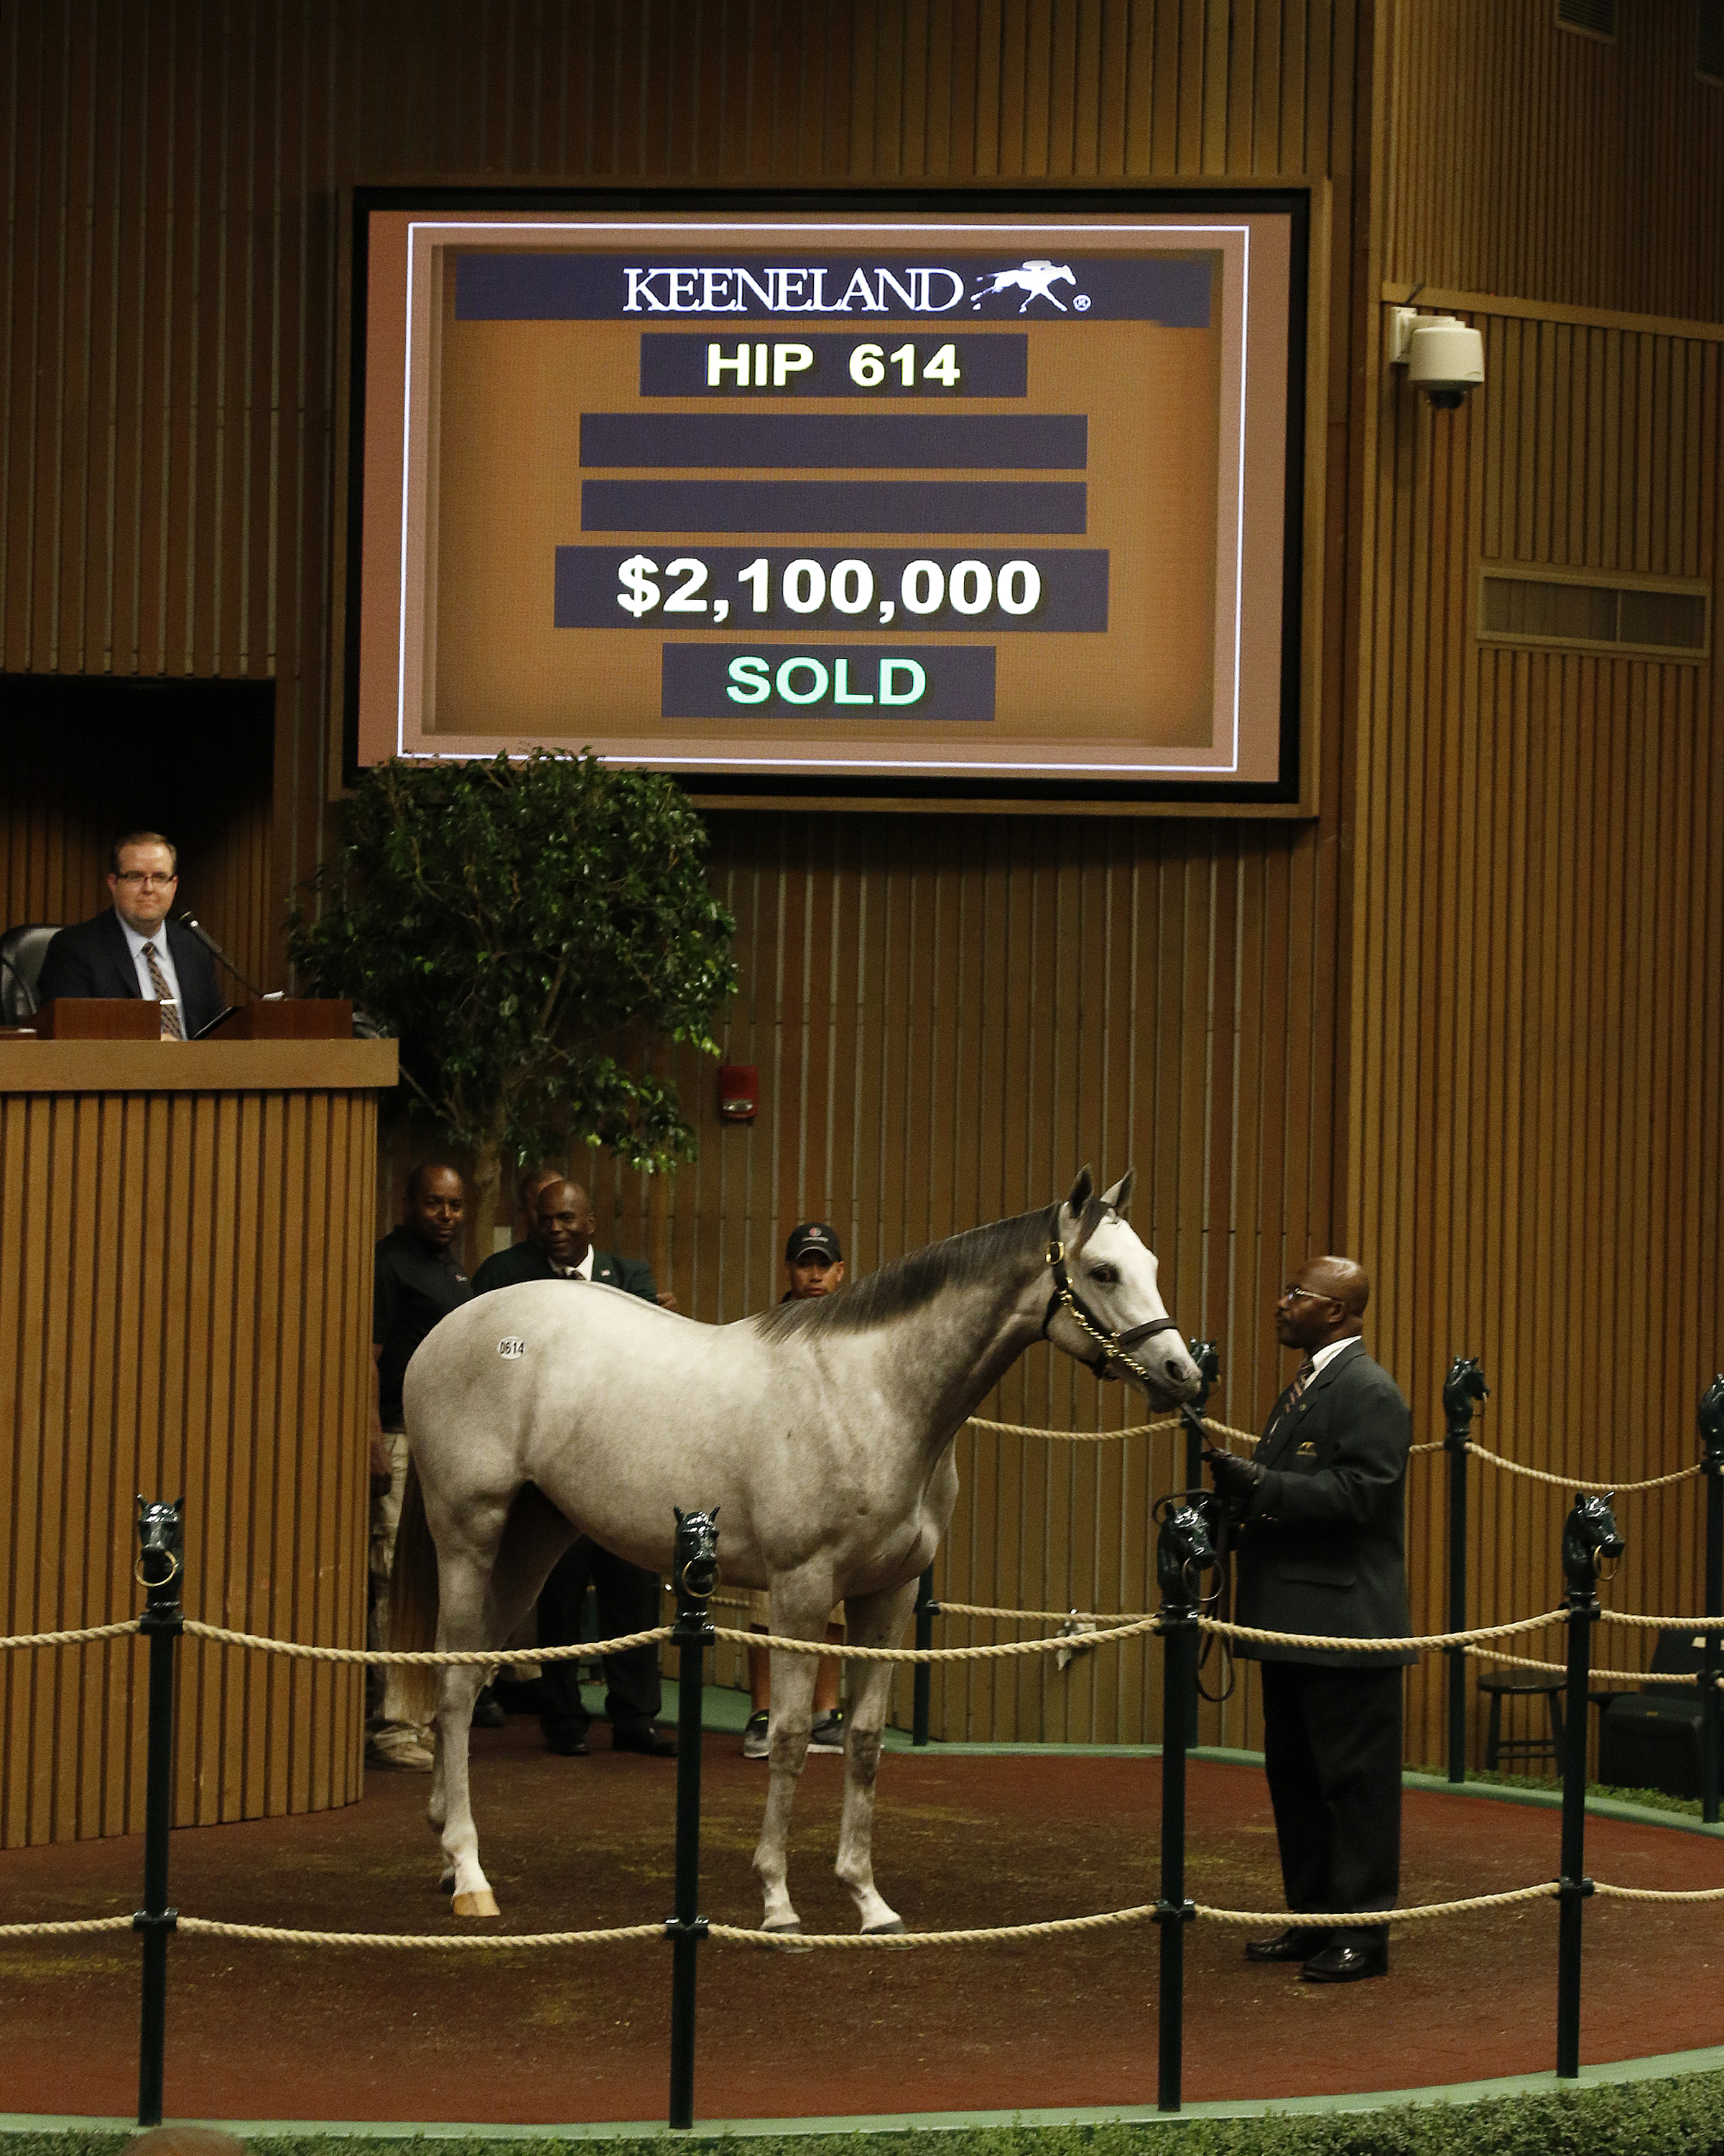
<path id="1" fill-rule="evenodd" d="M 532 1720 L 474 1740 L 485 1865 L 502 1927 L 655 1921 L 670 1910 L 675 1768 L 556 1759 Z M 840 1761 L 810 1759 L 793 1893 L 808 1930 L 849 1930 L 832 1878 Z M 371 1774 L 360 1805 L 175 1835 L 172 1899 L 198 1917 L 317 1930 L 453 1932 L 422 1774 Z M 703 1908 L 756 1923 L 750 1852 L 765 1770 L 705 1751 Z M 1026 1923 L 1155 1895 L 1153 1759 L 892 1755 L 879 1882 L 912 1927 Z M 1194 1761 L 1187 1891 L 1280 1899 L 1263 1777 Z M 1558 1813 L 1407 1794 L 1405 1902 L 1556 1874 Z M 1724 1884 L 1724 1841 L 1588 1822 L 1588 1869 L 1636 1887 Z M 0 1856 L 0 1921 L 131 1910 L 136 1839 Z M 1250 1968 L 1243 1934 L 1187 1932 L 1185 2098 L 1315 2096 L 1547 2072 L 1556 1906 L 1396 1932 L 1392 1973 L 1308 1986 Z M 700 2119 L 1155 2100 L 1153 1927 L 1054 1945 L 780 1955 L 700 1949 Z M 1724 1904 L 1586 1910 L 1586 2061 L 1724 2042 Z M 0 1955 L 0 2113 L 127 2117 L 138 1945 L 45 1940 Z M 177 1938 L 166 2109 L 183 2119 L 664 2117 L 670 1955 L 662 1943 L 472 1958 Z"/>

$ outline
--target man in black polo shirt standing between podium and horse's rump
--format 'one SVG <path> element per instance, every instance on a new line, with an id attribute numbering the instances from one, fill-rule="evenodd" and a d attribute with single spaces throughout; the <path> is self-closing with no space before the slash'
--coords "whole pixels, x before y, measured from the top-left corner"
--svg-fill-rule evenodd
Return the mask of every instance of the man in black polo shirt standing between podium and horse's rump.
<path id="1" fill-rule="evenodd" d="M 388 1647 L 390 1567 L 401 1492 L 407 1483 L 407 1438 L 401 1427 L 401 1380 L 425 1335 L 472 1296 L 457 1238 L 468 1194 L 455 1169 L 418 1166 L 407 1177 L 407 1218 L 377 1244 L 371 1298 L 371 1360 L 377 1371 L 371 1429 L 371 1621 L 375 1649 Z M 366 1759 L 373 1766 L 429 1768 L 431 1751 L 394 1703 L 394 1671 L 366 1682 Z"/>

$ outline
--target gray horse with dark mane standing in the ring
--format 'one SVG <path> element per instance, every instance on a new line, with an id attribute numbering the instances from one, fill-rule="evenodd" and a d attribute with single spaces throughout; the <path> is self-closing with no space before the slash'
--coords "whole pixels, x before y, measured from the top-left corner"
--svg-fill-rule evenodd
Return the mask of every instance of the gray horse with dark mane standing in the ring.
<path id="1" fill-rule="evenodd" d="M 724 1578 L 771 1591 L 771 1628 L 896 1645 L 957 1501 L 953 1438 L 1032 1341 L 1125 1376 L 1157 1406 L 1198 1386 L 1127 1227 L 1131 1177 L 881 1266 L 819 1302 L 703 1326 L 612 1287 L 532 1281 L 446 1317 L 407 1367 L 414 1466 L 390 1643 L 500 1647 L 575 1533 L 668 1570 L 677 1505 L 720 1516 Z M 435 1554 L 433 1554 L 435 1544 Z M 873 1805 L 890 1664 L 858 1662 L 838 1878 L 864 1932 L 903 1930 L 875 1891 Z M 435 1673 L 416 1712 L 429 1714 Z M 431 1824 L 459 1917 L 493 1917 L 468 1789 L 481 1669 L 435 1688 Z M 815 1658 L 771 1658 L 771 1781 L 754 1869 L 763 1923 L 795 1932 L 791 1800 Z"/>

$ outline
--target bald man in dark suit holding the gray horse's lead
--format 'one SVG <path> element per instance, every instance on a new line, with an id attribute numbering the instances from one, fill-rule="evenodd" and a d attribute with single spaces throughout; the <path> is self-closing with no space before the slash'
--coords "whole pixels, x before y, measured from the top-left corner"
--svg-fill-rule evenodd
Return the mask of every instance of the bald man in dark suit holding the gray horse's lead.
<path id="1" fill-rule="evenodd" d="M 1250 1460 L 1209 1449 L 1239 1522 L 1237 1621 L 1327 1639 L 1405 1639 L 1405 1485 L 1412 1419 L 1360 1339 L 1371 1283 L 1312 1257 L 1276 1302 L 1276 1337 L 1304 1363 Z M 1263 1764 L 1287 1906 L 1394 1908 L 1401 1893 L 1401 1671 L 1412 1649 L 1241 1641 L 1263 1675 Z M 1250 1962 L 1297 1962 L 1315 1984 L 1388 1973 L 1388 1925 L 1293 1925 Z"/>

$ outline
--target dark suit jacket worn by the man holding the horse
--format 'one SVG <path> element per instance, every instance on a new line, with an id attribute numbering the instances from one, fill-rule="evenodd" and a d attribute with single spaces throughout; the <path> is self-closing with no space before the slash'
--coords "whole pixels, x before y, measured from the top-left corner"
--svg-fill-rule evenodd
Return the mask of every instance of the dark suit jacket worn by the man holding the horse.
<path id="1" fill-rule="evenodd" d="M 1405 1639 L 1407 1449 L 1412 1416 L 1401 1388 L 1360 1341 L 1343 1348 L 1289 1410 L 1276 1401 L 1256 1447 L 1267 1468 L 1239 1535 L 1239 1623 L 1332 1639 Z M 1381 1669 L 1416 1662 L 1409 1647 L 1261 1647 L 1274 1662 Z"/>

